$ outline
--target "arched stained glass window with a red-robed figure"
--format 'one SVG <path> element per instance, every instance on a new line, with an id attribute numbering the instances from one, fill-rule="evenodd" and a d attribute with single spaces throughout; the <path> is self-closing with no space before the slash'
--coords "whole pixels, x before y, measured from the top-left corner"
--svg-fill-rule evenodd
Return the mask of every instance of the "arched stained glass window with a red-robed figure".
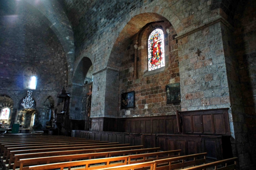
<path id="1" fill-rule="evenodd" d="M 155 29 L 148 38 L 148 71 L 164 67 L 164 35 L 162 29 Z"/>

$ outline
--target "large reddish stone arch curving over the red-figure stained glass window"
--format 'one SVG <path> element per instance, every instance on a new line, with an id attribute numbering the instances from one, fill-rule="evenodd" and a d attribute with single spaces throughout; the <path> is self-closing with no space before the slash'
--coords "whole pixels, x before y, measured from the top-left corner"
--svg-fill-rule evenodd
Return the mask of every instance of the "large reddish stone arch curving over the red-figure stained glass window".
<path id="1" fill-rule="evenodd" d="M 159 7 L 160 8 L 160 7 Z M 161 7 L 162 8 L 162 7 Z M 150 12 L 151 11 L 151 12 Z M 174 23 L 173 27 L 177 34 L 182 33 L 183 26 L 178 17 L 170 9 L 161 10 L 159 13 L 153 13 L 155 7 L 141 8 L 134 11 L 130 17 L 118 28 L 118 37 L 113 44 L 112 50 L 106 62 L 106 67 L 119 67 L 119 59 L 124 50 L 130 43 L 130 39 L 137 34 L 147 23 L 155 21 L 169 21 Z M 158 10 L 159 11 L 159 10 Z M 126 24 L 125 24 L 126 23 Z"/>

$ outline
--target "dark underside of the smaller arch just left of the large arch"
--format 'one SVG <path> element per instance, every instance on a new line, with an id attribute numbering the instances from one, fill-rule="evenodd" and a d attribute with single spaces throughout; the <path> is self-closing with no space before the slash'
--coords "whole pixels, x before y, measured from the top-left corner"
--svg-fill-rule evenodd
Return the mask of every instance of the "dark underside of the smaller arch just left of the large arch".
<path id="1" fill-rule="evenodd" d="M 82 86 L 88 70 L 93 65 L 92 60 L 89 57 L 83 57 L 76 67 L 76 72 L 74 73 L 72 83 Z"/>

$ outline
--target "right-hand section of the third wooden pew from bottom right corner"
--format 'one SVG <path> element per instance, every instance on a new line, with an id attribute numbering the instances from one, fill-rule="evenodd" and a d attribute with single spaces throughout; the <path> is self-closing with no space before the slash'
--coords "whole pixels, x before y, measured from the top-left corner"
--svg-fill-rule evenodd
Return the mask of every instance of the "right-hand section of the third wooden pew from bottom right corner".
<path id="1" fill-rule="evenodd" d="M 178 154 L 174 155 L 175 153 L 178 153 Z M 153 152 L 153 153 L 147 153 L 147 154 L 130 155 L 129 159 L 128 159 L 128 164 L 150 162 L 150 161 L 154 161 L 154 160 L 158 160 L 158 159 L 179 157 L 180 155 L 181 155 L 181 150 L 172 150 L 172 151 L 163 151 L 163 152 Z M 132 159 L 135 159 L 135 160 L 132 161 Z"/>

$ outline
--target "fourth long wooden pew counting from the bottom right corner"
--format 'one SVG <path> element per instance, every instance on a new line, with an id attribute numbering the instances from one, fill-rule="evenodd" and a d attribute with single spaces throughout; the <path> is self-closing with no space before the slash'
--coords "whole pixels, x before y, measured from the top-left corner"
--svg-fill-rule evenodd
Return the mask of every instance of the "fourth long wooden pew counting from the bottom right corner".
<path id="1" fill-rule="evenodd" d="M 138 154 L 149 151 L 158 151 L 160 148 L 147 148 L 147 149 L 135 149 L 135 150 L 124 150 L 124 151 L 112 151 L 112 152 L 99 152 L 99 153 L 89 153 L 89 154 L 76 154 L 76 155 L 63 155 L 63 156 L 50 156 L 50 157 L 39 157 L 39 158 L 28 158 L 28 159 L 20 159 L 17 157 L 17 161 L 14 162 L 13 167 L 8 167 L 8 169 L 15 170 L 16 168 L 20 168 L 20 170 L 27 170 L 28 165 L 40 165 L 40 164 L 49 164 L 56 162 L 64 162 L 64 161 L 77 161 L 77 159 L 96 159 L 99 156 L 111 157 L 113 155 L 122 155 L 126 154 Z M 27 166 L 27 167 L 24 167 Z"/>

